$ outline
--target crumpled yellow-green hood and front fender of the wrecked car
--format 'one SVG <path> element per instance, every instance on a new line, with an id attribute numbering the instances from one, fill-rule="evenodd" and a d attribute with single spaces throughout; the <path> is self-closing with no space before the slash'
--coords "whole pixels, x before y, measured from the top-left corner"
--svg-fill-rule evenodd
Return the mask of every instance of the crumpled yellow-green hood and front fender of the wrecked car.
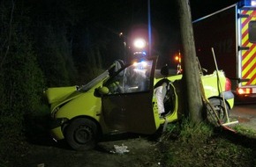
<path id="1" fill-rule="evenodd" d="M 64 87 L 64 91 L 68 92 L 69 96 L 62 96 L 64 95 L 61 91 L 62 88 L 49 88 L 46 91 L 48 96 L 53 95 L 59 97 L 59 99 L 50 98 L 55 99 L 52 100 L 54 103 L 51 105 L 52 119 L 64 118 L 72 120 L 76 117 L 86 116 L 98 121 L 101 124 L 103 133 L 108 133 L 109 128 L 107 128 L 102 119 L 102 100 L 101 98 L 94 97 L 94 89 L 101 85 L 102 83 L 96 84 L 86 93 L 74 89 L 76 86 Z M 51 130 L 51 134 L 53 134 L 54 138 L 57 140 L 64 139 L 64 135 L 60 132 L 60 129 L 61 128 L 56 127 Z"/>

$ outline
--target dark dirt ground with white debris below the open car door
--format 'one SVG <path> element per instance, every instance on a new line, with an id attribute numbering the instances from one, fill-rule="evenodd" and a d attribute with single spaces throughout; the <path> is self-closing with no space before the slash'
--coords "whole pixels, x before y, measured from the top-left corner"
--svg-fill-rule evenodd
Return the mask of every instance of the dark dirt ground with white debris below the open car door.
<path id="1" fill-rule="evenodd" d="M 64 142 L 34 143 L 30 145 L 31 148 L 23 157 L 23 162 L 17 166 L 156 167 L 162 166 L 163 149 L 159 149 L 159 143 L 148 137 L 130 136 L 125 140 L 111 139 L 111 141 L 99 142 L 95 149 L 89 151 L 72 150 Z"/>

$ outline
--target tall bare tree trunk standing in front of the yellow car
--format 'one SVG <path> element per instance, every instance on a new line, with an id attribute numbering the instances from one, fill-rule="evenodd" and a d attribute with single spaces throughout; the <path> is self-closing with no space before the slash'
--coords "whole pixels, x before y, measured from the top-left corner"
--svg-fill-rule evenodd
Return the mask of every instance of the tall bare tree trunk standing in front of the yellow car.
<path id="1" fill-rule="evenodd" d="M 202 120 L 201 112 L 203 109 L 200 94 L 200 74 L 196 60 L 196 51 L 192 31 L 192 16 L 189 0 L 177 0 L 179 8 L 179 22 L 181 28 L 181 41 L 183 51 L 184 76 L 187 109 L 189 118 L 192 122 L 198 123 Z"/>

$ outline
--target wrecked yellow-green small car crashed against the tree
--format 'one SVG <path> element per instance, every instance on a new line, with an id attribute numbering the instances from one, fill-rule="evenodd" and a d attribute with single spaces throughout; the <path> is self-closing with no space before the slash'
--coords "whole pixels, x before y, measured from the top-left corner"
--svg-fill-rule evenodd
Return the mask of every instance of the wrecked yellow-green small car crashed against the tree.
<path id="1" fill-rule="evenodd" d="M 179 98 L 174 85 L 182 75 L 158 77 L 156 60 L 152 57 L 124 67 L 116 62 L 86 85 L 47 89 L 52 137 L 64 139 L 72 149 L 87 150 L 102 134 L 154 134 L 164 123 L 177 120 Z M 222 71 L 219 76 L 226 107 L 231 109 L 230 82 Z M 201 78 L 207 98 L 223 113 L 216 72 Z"/>

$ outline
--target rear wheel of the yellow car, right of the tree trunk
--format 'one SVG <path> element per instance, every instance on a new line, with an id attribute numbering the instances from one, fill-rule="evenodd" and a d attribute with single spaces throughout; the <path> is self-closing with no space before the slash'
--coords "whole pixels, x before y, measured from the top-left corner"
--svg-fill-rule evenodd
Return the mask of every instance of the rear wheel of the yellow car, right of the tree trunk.
<path id="1" fill-rule="evenodd" d="M 211 103 L 211 106 L 207 105 L 207 120 L 210 123 L 218 124 L 218 121 L 219 121 L 217 119 L 218 117 L 221 123 L 225 123 L 227 121 L 225 105 L 226 105 L 228 115 L 230 114 L 229 106 L 226 103 L 224 104 L 222 99 L 212 98 L 209 101 Z M 213 111 L 212 107 L 214 107 L 215 112 Z"/>

